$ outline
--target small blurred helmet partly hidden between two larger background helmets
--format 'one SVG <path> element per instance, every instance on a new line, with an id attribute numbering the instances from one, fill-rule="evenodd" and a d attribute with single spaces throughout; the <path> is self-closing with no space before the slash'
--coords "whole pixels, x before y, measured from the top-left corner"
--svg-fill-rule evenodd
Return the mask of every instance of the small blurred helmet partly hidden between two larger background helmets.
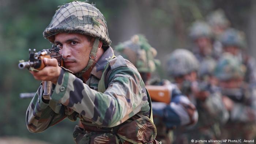
<path id="1" fill-rule="evenodd" d="M 211 57 L 206 57 L 202 62 L 200 62 L 200 67 L 198 69 L 198 76 L 203 79 L 205 76 L 214 75 L 214 70 L 216 67 L 216 62 Z"/>

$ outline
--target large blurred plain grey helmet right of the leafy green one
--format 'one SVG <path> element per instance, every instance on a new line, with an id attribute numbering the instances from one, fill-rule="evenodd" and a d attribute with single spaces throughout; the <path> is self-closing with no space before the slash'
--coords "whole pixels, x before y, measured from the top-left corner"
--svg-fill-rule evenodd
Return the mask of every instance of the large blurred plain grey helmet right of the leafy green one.
<path id="1" fill-rule="evenodd" d="M 166 64 L 168 74 L 173 77 L 197 71 L 199 67 L 199 62 L 194 54 L 186 49 L 174 50 Z"/>

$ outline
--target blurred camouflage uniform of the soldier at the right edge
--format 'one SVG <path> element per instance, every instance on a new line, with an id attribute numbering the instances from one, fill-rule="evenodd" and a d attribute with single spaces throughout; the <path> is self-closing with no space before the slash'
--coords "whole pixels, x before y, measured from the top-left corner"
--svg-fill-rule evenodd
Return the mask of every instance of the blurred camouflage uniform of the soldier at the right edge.
<path id="1" fill-rule="evenodd" d="M 243 87 L 243 86 L 242 86 Z M 229 121 L 222 128 L 222 138 L 253 140 L 256 137 L 256 88 L 237 88 L 227 95 L 234 103 Z M 226 92 L 225 92 L 226 93 Z"/>

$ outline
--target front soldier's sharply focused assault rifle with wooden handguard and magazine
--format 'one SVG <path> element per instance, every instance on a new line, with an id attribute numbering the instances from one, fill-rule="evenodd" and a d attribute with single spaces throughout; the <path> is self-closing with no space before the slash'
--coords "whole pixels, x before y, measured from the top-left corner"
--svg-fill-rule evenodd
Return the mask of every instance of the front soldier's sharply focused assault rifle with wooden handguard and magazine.
<path id="1" fill-rule="evenodd" d="M 60 48 L 56 45 L 52 45 L 50 49 L 43 49 L 39 52 L 35 52 L 35 49 L 31 51 L 29 49 L 29 61 L 21 60 L 19 62 L 18 67 L 20 69 L 27 68 L 30 71 L 40 71 L 46 65 L 43 62 L 43 59 L 46 58 L 56 58 L 58 61 L 59 66 L 63 66 L 63 59 L 61 54 L 59 53 Z M 43 81 L 43 97 L 44 99 L 50 99 L 50 93 L 52 90 L 52 82 L 50 81 Z M 26 96 L 25 96 L 26 97 Z"/>

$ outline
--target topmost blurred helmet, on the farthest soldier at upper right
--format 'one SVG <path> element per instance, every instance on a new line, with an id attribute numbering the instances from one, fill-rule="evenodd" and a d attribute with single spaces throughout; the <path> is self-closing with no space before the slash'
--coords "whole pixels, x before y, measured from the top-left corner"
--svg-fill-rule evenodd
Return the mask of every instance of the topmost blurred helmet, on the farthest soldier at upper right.
<path id="1" fill-rule="evenodd" d="M 221 9 L 212 12 L 210 15 L 207 16 L 206 19 L 208 24 L 210 24 L 211 26 L 226 28 L 230 24 L 229 20 L 226 18 L 224 11 Z"/>

